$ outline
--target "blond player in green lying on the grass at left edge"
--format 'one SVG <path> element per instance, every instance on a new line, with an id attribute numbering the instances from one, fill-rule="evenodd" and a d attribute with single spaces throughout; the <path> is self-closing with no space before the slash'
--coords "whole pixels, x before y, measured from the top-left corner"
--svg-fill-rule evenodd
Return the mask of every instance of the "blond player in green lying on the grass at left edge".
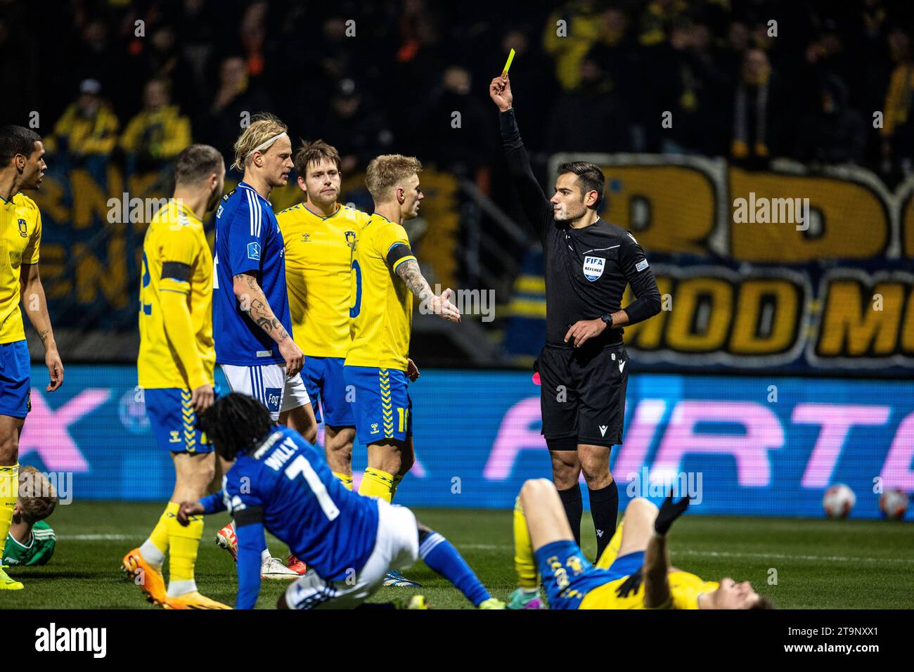
<path id="1" fill-rule="evenodd" d="M 45 518 L 57 507 L 57 489 L 34 466 L 19 469 L 19 496 L 6 535 L 3 564 L 34 567 L 48 563 L 57 537 Z"/>

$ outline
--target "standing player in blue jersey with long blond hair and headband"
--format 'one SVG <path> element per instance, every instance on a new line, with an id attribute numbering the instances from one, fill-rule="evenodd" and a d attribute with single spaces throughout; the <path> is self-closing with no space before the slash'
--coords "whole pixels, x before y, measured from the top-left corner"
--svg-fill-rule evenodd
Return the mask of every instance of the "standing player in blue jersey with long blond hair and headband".
<path id="1" fill-rule="evenodd" d="M 292 318 L 285 280 L 285 243 L 268 198 L 284 187 L 292 170 L 292 142 L 286 125 L 260 113 L 235 143 L 234 167 L 244 176 L 216 211 L 216 255 L 213 259 L 213 329 L 216 363 L 232 391 L 260 400 L 278 421 L 282 411 L 303 411 L 313 426 L 314 411 L 304 389 L 304 355 L 292 340 Z M 315 434 L 305 438 L 314 441 Z M 217 543 L 235 556 L 237 539 L 230 526 Z M 287 569 L 262 553 L 261 575 L 294 579 Z"/>

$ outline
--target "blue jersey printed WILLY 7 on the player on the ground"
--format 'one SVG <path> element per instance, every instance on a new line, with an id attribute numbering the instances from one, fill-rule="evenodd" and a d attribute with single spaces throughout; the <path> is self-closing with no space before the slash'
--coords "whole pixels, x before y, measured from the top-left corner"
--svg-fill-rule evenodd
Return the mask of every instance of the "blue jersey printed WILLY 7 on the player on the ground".
<path id="1" fill-rule="evenodd" d="M 232 516 L 260 507 L 263 525 L 324 581 L 361 571 L 375 548 L 377 499 L 346 490 L 324 451 L 280 425 L 225 476 L 223 502 Z"/>

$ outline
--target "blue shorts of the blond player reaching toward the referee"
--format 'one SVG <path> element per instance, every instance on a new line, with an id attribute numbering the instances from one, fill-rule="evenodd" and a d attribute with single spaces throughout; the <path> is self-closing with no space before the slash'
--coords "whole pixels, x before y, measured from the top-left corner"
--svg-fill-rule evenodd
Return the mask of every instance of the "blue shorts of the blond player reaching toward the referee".
<path id="1" fill-rule="evenodd" d="M 396 368 L 344 367 L 345 384 L 356 394 L 356 437 L 363 445 L 412 436 L 409 381 Z"/>

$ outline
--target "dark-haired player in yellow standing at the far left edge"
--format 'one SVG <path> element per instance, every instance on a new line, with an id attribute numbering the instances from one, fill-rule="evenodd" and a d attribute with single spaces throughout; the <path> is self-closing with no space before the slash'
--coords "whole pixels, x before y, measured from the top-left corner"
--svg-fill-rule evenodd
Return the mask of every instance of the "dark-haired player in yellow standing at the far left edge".
<path id="1" fill-rule="evenodd" d="M 31 402 L 31 365 L 26 331 L 19 304 L 45 347 L 53 392 L 63 384 L 48 301 L 38 274 L 41 245 L 41 212 L 21 189 L 37 189 L 44 176 L 45 148 L 41 136 L 23 126 L 0 127 L 0 240 L 3 240 L 4 272 L 0 276 L 0 539 L 6 539 L 19 484 L 19 434 Z M 0 567 L 0 591 L 20 591 L 20 581 L 9 578 Z"/>

